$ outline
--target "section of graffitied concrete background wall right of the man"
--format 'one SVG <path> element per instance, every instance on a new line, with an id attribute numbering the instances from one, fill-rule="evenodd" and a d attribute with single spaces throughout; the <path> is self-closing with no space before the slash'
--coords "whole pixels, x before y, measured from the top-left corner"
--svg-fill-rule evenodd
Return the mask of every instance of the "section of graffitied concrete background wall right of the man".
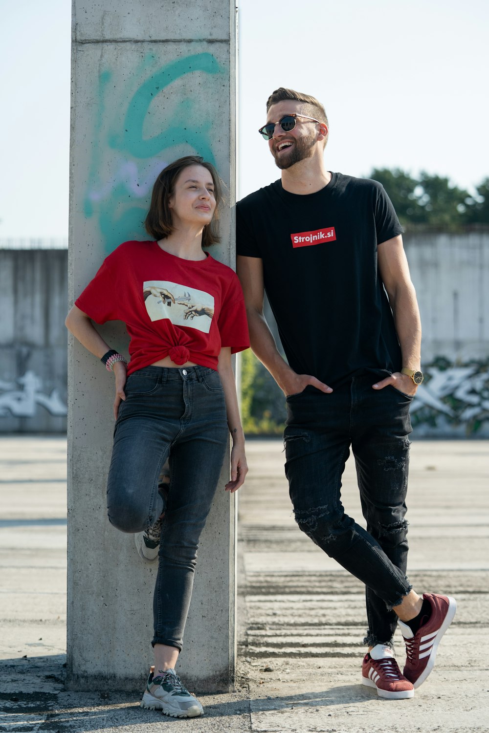
<path id="1" fill-rule="evenodd" d="M 425 381 L 415 435 L 489 438 L 489 233 L 405 235 Z"/>

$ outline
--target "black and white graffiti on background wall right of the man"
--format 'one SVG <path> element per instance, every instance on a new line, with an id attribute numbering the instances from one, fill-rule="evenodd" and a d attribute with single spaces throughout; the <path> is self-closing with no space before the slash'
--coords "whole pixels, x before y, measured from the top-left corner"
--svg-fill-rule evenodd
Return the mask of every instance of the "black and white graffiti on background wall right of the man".
<path id="1" fill-rule="evenodd" d="M 423 369 L 425 380 L 411 405 L 413 425 L 465 428 L 477 435 L 489 424 L 489 361 L 454 366 L 439 357 Z"/>

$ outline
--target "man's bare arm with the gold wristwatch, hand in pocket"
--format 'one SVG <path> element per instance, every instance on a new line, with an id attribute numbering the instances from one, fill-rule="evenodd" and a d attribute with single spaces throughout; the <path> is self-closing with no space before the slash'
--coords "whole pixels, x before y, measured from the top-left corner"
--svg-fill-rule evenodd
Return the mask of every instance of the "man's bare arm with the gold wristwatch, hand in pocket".
<path id="1" fill-rule="evenodd" d="M 402 367 L 418 371 L 421 368 L 421 319 L 401 235 L 380 244 L 377 255 L 380 277 L 389 295 L 401 347 Z M 394 372 L 375 384 L 374 388 L 382 389 L 388 384 L 406 394 L 416 392 L 411 377 L 400 372 Z"/>

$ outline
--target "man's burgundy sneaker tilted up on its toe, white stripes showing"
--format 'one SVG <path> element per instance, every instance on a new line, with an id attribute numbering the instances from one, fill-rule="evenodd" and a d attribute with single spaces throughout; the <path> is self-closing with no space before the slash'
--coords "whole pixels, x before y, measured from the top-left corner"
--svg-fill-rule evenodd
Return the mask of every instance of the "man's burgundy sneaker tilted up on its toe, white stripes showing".
<path id="1" fill-rule="evenodd" d="M 407 624 L 399 622 L 408 655 L 404 676 L 413 683 L 415 689 L 423 684 L 433 669 L 440 639 L 452 623 L 457 610 L 455 598 L 436 593 L 424 593 L 423 600 L 430 602 L 431 616 L 415 634 Z"/>

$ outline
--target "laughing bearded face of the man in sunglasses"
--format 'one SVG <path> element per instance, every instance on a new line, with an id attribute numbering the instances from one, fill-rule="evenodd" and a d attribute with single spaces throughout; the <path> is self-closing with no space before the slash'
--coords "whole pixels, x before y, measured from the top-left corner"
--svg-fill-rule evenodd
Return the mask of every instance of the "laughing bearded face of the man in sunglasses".
<path id="1" fill-rule="evenodd" d="M 268 110 L 267 122 L 277 122 L 286 114 L 307 114 L 302 102 L 283 100 L 273 104 Z M 317 122 L 311 119 L 297 118 L 295 128 L 284 132 L 280 125 L 275 125 L 273 137 L 268 141 L 275 163 L 281 170 L 290 168 L 299 161 L 312 158 L 317 144 Z"/>

